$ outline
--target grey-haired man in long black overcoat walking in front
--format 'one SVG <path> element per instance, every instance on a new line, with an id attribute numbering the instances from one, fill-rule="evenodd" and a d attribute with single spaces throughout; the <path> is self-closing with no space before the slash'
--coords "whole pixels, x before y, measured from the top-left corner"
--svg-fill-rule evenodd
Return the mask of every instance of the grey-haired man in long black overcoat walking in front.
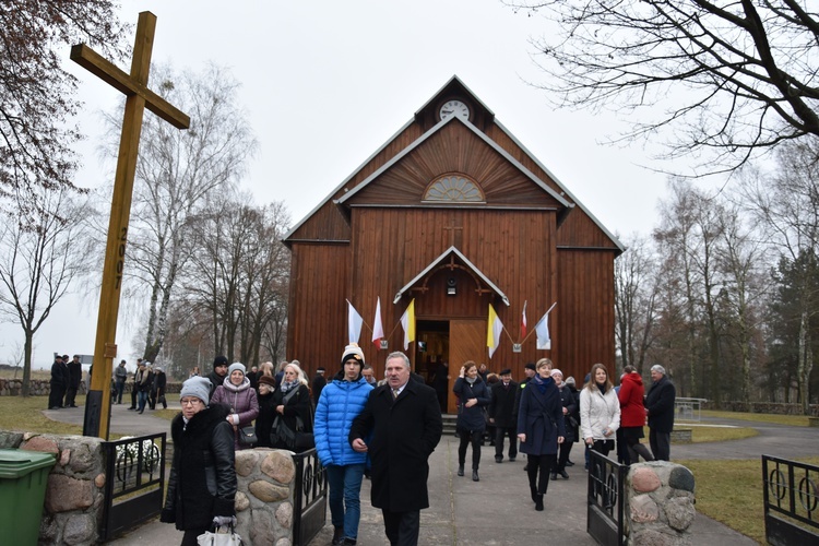
<path id="1" fill-rule="evenodd" d="M 410 381 L 410 359 L 387 357 L 387 383 L 370 392 L 348 440 L 372 460 L 372 506 L 380 508 L 390 544 L 418 544 L 420 510 L 429 508 L 429 455 L 443 425 L 435 389 Z M 372 435 L 369 444 L 364 441 Z"/>

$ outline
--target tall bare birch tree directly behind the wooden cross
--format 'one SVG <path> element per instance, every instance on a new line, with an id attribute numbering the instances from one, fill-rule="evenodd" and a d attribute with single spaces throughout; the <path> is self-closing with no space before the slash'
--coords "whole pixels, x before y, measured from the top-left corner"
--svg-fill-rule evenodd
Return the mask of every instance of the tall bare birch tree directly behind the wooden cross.
<path id="1" fill-rule="evenodd" d="M 147 296 L 143 355 L 152 361 L 167 334 L 178 276 L 194 251 L 197 215 L 235 191 L 257 146 L 228 71 L 157 68 L 154 76 L 163 95 L 191 117 L 191 127 L 178 131 L 154 116 L 143 126 L 128 249 L 129 271 L 141 282 L 126 293 L 134 300 Z M 109 119 L 116 127 L 118 118 Z"/>

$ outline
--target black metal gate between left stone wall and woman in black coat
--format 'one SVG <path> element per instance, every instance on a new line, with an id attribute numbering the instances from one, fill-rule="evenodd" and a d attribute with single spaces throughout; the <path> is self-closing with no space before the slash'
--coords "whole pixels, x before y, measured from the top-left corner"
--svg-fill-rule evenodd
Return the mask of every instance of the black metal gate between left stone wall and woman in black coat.
<path id="1" fill-rule="evenodd" d="M 99 539 L 105 542 L 162 511 L 166 434 L 103 443 L 105 499 Z"/>

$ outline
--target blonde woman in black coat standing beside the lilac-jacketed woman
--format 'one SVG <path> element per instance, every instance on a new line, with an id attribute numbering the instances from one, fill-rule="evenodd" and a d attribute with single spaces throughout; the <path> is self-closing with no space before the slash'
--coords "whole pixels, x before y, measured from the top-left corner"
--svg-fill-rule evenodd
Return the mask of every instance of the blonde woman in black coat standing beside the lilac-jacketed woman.
<path id="1" fill-rule="evenodd" d="M 312 432 L 310 389 L 307 388 L 307 378 L 298 365 L 290 363 L 284 367 L 282 384 L 273 393 L 273 428 L 277 432 L 274 435 L 275 441 L 271 440 L 271 447 L 294 451 L 293 440 L 298 431 L 299 422 L 304 427 L 301 431 Z"/>

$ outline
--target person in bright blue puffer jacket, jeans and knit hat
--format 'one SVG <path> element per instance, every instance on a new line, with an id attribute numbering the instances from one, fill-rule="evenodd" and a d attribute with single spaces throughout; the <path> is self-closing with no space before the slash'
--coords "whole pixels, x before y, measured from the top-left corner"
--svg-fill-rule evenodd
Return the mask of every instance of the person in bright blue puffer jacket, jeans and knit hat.
<path id="1" fill-rule="evenodd" d="M 360 519 L 361 478 L 366 453 L 353 450 L 349 428 L 369 397 L 372 385 L 361 377 L 364 352 L 353 343 L 342 356 L 342 370 L 321 391 L 316 406 L 313 435 L 330 486 L 330 514 L 335 531 L 333 544 L 356 544 Z"/>

